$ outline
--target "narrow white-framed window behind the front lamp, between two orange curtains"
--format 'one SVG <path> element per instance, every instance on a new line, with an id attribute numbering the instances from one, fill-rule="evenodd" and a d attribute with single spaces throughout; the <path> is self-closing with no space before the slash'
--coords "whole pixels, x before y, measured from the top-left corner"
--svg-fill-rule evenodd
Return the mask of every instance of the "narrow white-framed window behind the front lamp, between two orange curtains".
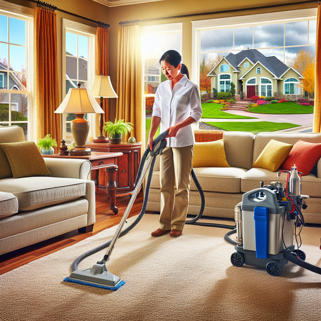
<path id="1" fill-rule="evenodd" d="M 63 19 L 63 99 L 70 88 L 91 89 L 95 76 L 95 33 L 92 28 L 81 23 Z M 75 114 L 62 114 L 63 139 L 70 144 L 73 141 L 71 133 L 71 121 Z M 95 136 L 95 114 L 85 114 L 85 119 L 90 121 L 88 136 Z"/>

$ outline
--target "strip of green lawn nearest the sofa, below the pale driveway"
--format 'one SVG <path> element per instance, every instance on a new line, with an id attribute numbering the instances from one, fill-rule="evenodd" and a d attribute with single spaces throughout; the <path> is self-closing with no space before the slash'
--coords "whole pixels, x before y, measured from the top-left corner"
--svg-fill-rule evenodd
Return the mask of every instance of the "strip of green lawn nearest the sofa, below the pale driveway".
<path id="1" fill-rule="evenodd" d="M 252 132 L 257 134 L 259 132 L 274 132 L 292 127 L 299 127 L 299 125 L 290 123 L 272 123 L 267 121 L 260 122 L 206 122 L 206 124 L 228 130 L 228 131 L 241 131 Z"/>

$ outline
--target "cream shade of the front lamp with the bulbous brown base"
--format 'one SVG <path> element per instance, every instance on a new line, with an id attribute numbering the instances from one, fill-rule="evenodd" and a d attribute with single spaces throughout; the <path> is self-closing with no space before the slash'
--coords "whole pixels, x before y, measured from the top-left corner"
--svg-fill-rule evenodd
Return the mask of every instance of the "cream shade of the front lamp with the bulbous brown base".
<path id="1" fill-rule="evenodd" d="M 55 113 L 62 114 L 102 114 L 104 111 L 92 96 L 89 89 L 86 88 L 70 88 L 65 99 L 56 109 Z"/>

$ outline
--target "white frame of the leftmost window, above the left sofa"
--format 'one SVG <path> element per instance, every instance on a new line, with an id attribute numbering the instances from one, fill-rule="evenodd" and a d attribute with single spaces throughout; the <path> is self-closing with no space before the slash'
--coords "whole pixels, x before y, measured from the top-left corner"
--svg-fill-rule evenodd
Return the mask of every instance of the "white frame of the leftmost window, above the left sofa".
<path id="1" fill-rule="evenodd" d="M 36 140 L 36 132 L 35 132 L 35 124 L 36 124 L 36 115 L 33 110 L 33 73 L 34 73 L 34 59 L 33 59 L 33 15 L 34 9 L 24 7 L 22 5 L 9 3 L 7 1 L 0 0 L 0 14 L 6 15 L 8 17 L 22 19 L 26 22 L 26 74 L 27 74 L 27 88 L 28 91 L 23 91 L 23 94 L 28 96 L 28 141 L 35 142 Z M 9 74 L 8 74 L 9 77 Z M 6 93 L 21 93 L 16 90 L 5 90 Z M 11 99 L 9 99 L 9 104 L 11 103 Z M 9 108 L 9 119 L 11 119 L 11 108 Z M 21 121 L 24 123 L 24 121 Z"/>

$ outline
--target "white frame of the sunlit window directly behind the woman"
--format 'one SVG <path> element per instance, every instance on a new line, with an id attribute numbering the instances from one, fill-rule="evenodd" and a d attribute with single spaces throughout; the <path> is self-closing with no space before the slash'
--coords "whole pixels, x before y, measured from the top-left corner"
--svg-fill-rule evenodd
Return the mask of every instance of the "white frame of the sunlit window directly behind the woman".
<path id="1" fill-rule="evenodd" d="M 164 33 L 164 32 L 169 32 L 169 33 L 181 33 L 181 40 L 180 40 L 180 50 L 179 53 L 182 55 L 183 51 L 183 22 L 175 22 L 175 23 L 165 23 L 165 24 L 157 24 L 157 25 L 149 25 L 149 26 L 142 26 L 140 27 L 140 33 L 142 34 L 154 34 L 154 33 Z M 158 58 L 158 57 L 148 57 L 150 59 L 152 58 Z M 160 58 L 160 57 L 159 57 Z M 143 147 L 146 148 L 145 146 L 145 141 L 146 141 L 146 132 L 145 132 L 145 124 L 146 124 L 146 112 L 145 112 L 145 98 L 146 97 L 155 97 L 155 94 L 145 94 L 144 92 L 144 80 L 145 80 L 145 66 L 144 66 L 144 57 L 142 55 L 142 110 L 143 110 L 143 117 L 142 117 L 142 128 L 143 128 Z M 184 61 L 183 61 L 184 63 Z M 160 74 L 158 75 L 159 81 L 161 80 L 161 73 L 162 71 L 160 70 Z M 147 75 L 148 76 L 148 75 Z M 192 125 L 194 126 L 194 125 Z M 198 128 L 195 128 L 198 129 Z"/>

